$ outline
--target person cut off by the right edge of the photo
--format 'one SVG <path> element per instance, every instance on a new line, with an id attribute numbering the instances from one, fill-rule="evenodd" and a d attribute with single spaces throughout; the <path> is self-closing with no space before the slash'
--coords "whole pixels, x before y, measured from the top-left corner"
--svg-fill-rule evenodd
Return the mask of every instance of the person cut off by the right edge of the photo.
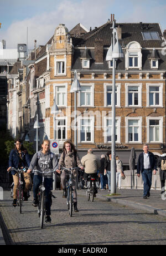
<path id="1" fill-rule="evenodd" d="M 162 149 L 162 155 L 158 157 L 157 167 L 159 168 L 161 194 L 165 192 L 165 179 L 166 179 L 166 148 Z"/>

